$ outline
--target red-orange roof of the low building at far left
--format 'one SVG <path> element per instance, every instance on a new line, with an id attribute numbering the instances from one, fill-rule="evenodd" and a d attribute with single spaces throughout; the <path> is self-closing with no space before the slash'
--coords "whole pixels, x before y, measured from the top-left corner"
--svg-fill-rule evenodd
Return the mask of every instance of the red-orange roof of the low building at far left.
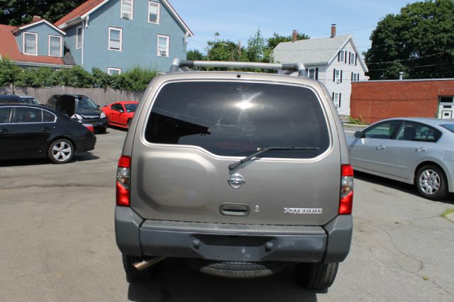
<path id="1" fill-rule="evenodd" d="M 0 25 L 0 57 L 16 63 L 38 63 L 38 65 L 65 65 L 62 57 L 48 57 L 45 55 L 23 55 L 13 35 L 16 26 Z M 45 38 L 48 38 L 47 35 Z M 24 64 L 26 65 L 26 64 Z"/>

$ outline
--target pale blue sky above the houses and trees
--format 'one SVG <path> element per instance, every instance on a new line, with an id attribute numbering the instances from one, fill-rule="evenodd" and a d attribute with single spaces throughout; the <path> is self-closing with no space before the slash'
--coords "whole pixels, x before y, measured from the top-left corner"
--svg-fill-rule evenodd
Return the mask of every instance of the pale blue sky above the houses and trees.
<path id="1" fill-rule="evenodd" d="M 246 45 L 260 28 L 269 38 L 273 33 L 291 35 L 292 30 L 311 38 L 328 37 L 331 23 L 337 34 L 353 35 L 360 52 L 370 48 L 377 23 L 389 13 L 399 13 L 412 0 L 170 0 L 194 37 L 188 50 L 205 52 L 206 41 L 219 38 Z"/>

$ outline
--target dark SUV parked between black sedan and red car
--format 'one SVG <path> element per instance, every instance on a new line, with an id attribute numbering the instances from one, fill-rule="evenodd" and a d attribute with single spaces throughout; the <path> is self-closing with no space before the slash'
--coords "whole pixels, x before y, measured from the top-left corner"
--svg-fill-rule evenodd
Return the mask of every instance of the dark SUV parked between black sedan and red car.
<path id="1" fill-rule="evenodd" d="M 48 99 L 46 106 L 61 112 L 79 123 L 92 124 L 96 132 L 105 133 L 106 113 L 99 109 L 92 99 L 82 94 L 55 94 Z"/>

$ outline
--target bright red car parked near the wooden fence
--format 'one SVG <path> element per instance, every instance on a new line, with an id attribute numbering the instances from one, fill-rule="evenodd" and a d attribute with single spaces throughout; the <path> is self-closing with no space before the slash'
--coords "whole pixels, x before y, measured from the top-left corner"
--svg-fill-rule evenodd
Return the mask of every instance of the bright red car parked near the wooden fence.
<path id="1" fill-rule="evenodd" d="M 138 104 L 138 101 L 118 101 L 104 106 L 102 111 L 106 113 L 109 125 L 129 128 L 129 123 L 133 119 L 135 108 L 137 108 Z"/>

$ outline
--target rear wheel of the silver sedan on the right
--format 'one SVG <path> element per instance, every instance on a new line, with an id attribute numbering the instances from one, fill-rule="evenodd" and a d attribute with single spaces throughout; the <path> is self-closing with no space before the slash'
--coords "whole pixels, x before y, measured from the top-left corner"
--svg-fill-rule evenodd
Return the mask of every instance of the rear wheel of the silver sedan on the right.
<path id="1" fill-rule="evenodd" d="M 448 197 L 448 182 L 445 172 L 435 164 L 427 164 L 419 168 L 416 172 L 414 184 L 419 194 L 424 198 L 438 201 Z M 438 184 L 438 189 L 435 191 L 436 184 Z"/>

